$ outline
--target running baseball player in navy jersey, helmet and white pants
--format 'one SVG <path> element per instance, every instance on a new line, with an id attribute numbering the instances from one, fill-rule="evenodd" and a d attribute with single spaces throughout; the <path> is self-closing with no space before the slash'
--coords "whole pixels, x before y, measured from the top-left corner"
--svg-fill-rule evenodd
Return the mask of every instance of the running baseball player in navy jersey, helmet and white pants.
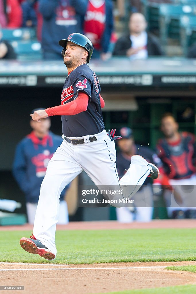
<path id="1" fill-rule="evenodd" d="M 40 189 L 33 236 L 21 238 L 21 247 L 29 253 L 52 260 L 56 257 L 55 231 L 59 215 L 59 196 L 65 186 L 81 171 L 86 171 L 97 187 L 130 185 L 131 193 L 118 198 L 132 197 L 147 176 L 157 178 L 158 168 L 143 157 L 134 155 L 130 168 L 119 181 L 116 170 L 115 130 L 104 130 L 98 77 L 88 63 L 93 44 L 84 35 L 73 33 L 60 40 L 62 57 L 68 69 L 61 94 L 61 105 L 38 110 L 31 114 L 34 121 L 53 115 L 62 116 L 63 142 L 48 163 Z M 122 206 L 122 204 L 115 204 Z"/>

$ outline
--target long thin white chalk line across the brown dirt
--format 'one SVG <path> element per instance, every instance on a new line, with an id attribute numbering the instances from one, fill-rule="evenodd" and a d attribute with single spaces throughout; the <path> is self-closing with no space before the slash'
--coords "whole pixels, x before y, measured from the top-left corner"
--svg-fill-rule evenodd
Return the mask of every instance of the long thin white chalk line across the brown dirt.
<path id="1" fill-rule="evenodd" d="M 14 268 L 0 269 L 0 271 L 17 271 L 17 270 L 126 270 L 126 269 L 143 269 L 143 268 L 165 268 L 166 266 L 131 266 L 122 268 Z"/>

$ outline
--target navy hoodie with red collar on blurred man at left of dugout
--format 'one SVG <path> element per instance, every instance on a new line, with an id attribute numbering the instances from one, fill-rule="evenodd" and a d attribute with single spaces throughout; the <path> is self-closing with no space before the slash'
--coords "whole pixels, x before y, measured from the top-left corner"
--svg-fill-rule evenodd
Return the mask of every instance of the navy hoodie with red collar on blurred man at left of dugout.
<path id="1" fill-rule="evenodd" d="M 31 132 L 17 145 L 13 174 L 25 193 L 26 202 L 38 203 L 40 186 L 46 174 L 48 162 L 62 141 L 61 136 L 52 132 L 43 139 L 38 139 L 34 132 Z M 69 185 L 61 192 L 60 201 L 64 199 L 68 187 Z"/>

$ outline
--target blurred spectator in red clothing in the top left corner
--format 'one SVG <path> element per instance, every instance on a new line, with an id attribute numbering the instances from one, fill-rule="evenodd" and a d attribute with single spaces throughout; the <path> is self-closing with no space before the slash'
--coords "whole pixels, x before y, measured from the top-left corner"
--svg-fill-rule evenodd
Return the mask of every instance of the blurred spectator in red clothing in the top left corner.
<path id="1" fill-rule="evenodd" d="M 9 29 L 22 25 L 22 9 L 18 0 L 0 0 L 0 24 Z"/>

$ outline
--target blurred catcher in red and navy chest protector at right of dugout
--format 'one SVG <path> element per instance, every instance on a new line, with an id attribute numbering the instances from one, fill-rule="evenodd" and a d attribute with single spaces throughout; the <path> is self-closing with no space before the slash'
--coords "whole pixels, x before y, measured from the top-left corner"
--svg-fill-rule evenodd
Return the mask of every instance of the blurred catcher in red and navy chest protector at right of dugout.
<path id="1" fill-rule="evenodd" d="M 163 184 L 172 185 L 173 190 L 172 196 L 165 190 L 167 212 L 171 218 L 196 218 L 196 208 L 190 207 L 195 199 L 194 186 L 186 186 L 196 185 L 195 135 L 179 132 L 178 127 L 172 113 L 163 115 L 161 131 L 164 138 L 158 141 L 157 154 L 163 162 Z M 190 187 L 193 193 L 188 191 Z"/>

